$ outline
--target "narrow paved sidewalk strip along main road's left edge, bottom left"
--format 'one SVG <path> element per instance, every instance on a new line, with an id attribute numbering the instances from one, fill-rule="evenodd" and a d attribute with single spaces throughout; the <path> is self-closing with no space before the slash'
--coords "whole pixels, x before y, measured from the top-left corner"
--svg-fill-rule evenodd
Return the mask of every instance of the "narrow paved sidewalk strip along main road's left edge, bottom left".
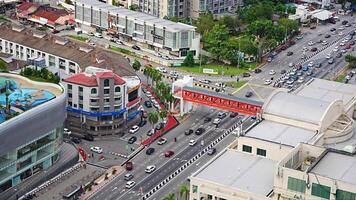
<path id="1" fill-rule="evenodd" d="M 116 170 L 115 174 L 112 174 L 113 170 Z M 124 172 L 124 168 L 121 166 L 113 166 L 106 170 L 107 173 L 107 179 L 105 179 L 105 174 L 100 176 L 98 179 L 94 181 L 94 184 L 91 186 L 91 190 L 86 191 L 82 196 L 79 197 L 79 200 L 86 200 L 96 194 L 100 189 L 106 185 L 107 183 L 111 182 L 114 180 L 115 177 L 120 175 L 122 172 Z"/>

